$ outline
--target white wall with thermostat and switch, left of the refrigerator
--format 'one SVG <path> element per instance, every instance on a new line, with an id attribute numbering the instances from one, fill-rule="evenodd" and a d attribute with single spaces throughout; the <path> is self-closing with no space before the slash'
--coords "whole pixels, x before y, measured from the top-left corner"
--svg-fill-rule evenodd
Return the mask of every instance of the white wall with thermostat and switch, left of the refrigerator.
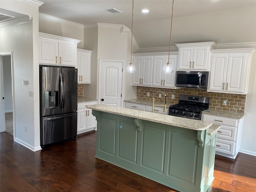
<path id="1" fill-rule="evenodd" d="M 38 3 L 38 2 L 36 2 Z M 12 52 L 14 66 L 14 140 L 39 150 L 39 60 L 38 60 L 38 5 L 19 0 L 1 0 L 1 8 L 26 14 L 31 22 L 1 28 L 1 52 Z M 27 80 L 28 85 L 22 85 Z M 28 90 L 34 97 L 28 96 Z M 24 125 L 28 126 L 25 132 Z"/>

